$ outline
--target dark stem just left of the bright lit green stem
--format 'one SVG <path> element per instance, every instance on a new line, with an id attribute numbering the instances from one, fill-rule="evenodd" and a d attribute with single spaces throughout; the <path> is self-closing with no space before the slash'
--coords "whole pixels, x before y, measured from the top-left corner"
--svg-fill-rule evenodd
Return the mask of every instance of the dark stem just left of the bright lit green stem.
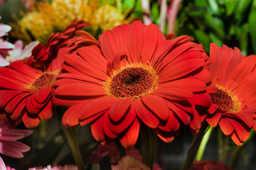
<path id="1" fill-rule="evenodd" d="M 196 153 L 198 152 L 198 148 L 201 144 L 201 141 L 203 139 L 203 135 L 206 134 L 206 131 L 208 130 L 208 123 L 203 123 L 201 126 L 198 134 L 193 138 L 193 142 L 191 144 L 191 148 L 188 150 L 187 157 L 185 159 L 185 162 L 183 163 L 182 170 L 191 169 L 191 166 L 193 164 L 193 161 L 196 157 Z"/>

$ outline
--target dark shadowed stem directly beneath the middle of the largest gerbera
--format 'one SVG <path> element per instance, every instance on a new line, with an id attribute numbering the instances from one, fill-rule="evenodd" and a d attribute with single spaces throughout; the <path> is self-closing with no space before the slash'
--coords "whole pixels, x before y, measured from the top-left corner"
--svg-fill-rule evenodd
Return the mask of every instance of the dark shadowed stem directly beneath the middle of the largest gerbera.
<path id="1" fill-rule="evenodd" d="M 146 125 L 141 125 L 142 162 L 150 169 L 153 167 L 156 153 L 156 134 Z"/>

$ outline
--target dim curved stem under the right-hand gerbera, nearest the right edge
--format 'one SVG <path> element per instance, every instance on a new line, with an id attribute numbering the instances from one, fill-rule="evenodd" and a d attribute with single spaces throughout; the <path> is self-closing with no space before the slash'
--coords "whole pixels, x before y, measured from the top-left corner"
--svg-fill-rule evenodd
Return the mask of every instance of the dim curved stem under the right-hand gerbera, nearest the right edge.
<path id="1" fill-rule="evenodd" d="M 232 153 L 230 163 L 229 163 L 229 166 L 231 169 L 234 169 L 235 166 L 238 164 L 238 158 L 240 153 L 242 152 L 242 149 L 245 148 L 247 143 L 252 139 L 254 135 L 255 135 L 255 130 L 252 129 L 250 132 L 250 137 L 248 137 L 248 139 L 243 143 L 243 145 L 235 147 L 235 150 Z"/>

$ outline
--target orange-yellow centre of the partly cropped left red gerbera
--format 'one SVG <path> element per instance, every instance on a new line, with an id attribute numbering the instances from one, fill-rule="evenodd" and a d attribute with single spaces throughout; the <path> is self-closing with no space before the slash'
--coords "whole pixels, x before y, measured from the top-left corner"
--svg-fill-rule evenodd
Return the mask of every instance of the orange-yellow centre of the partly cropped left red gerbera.
<path id="1" fill-rule="evenodd" d="M 38 91 L 41 89 L 43 86 L 52 86 L 55 81 L 56 81 L 56 76 L 58 73 L 56 72 L 48 72 L 48 73 L 43 73 L 41 77 L 38 77 L 36 81 L 31 84 L 28 89 L 32 89 L 34 91 Z"/>

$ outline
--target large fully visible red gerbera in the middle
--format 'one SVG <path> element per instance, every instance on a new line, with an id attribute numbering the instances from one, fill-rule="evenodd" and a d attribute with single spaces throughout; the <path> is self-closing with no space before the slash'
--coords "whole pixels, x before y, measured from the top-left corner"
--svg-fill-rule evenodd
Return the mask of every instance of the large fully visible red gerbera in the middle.
<path id="1" fill-rule="evenodd" d="M 53 102 L 70 107 L 63 124 L 91 123 L 96 140 L 119 137 L 124 147 L 137 141 L 140 120 L 166 142 L 191 120 L 200 128 L 190 99 L 206 93 L 210 72 L 190 40 L 166 40 L 156 25 L 134 21 L 105 31 L 100 45 L 73 47 L 53 88 Z"/>

